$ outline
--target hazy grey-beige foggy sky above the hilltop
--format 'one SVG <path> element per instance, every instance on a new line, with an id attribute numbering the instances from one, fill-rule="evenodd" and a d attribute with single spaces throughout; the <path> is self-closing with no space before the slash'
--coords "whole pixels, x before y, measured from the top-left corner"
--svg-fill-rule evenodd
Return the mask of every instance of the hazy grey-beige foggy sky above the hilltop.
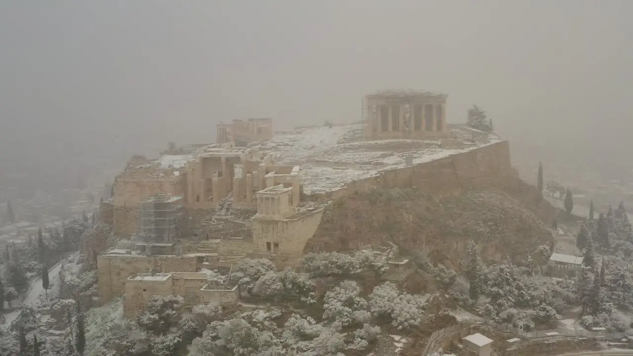
<path id="1" fill-rule="evenodd" d="M 626 0 L 2 1 L 0 179 L 63 185 L 168 141 L 212 142 L 233 118 L 353 122 L 363 95 L 389 88 L 446 92 L 449 122 L 477 104 L 535 160 L 615 166 L 633 151 L 632 10 Z"/>

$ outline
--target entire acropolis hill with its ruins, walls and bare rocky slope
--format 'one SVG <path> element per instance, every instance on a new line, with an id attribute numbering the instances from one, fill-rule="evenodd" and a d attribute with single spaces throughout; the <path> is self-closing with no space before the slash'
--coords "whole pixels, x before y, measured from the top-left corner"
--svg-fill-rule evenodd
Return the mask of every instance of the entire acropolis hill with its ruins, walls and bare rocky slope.
<path id="1" fill-rule="evenodd" d="M 230 270 L 246 257 L 294 265 L 304 251 L 395 243 L 450 261 L 475 236 L 450 226 L 481 220 L 463 209 L 486 194 L 501 207 L 494 219 L 522 215 L 506 231 L 521 231 L 520 241 L 482 240 L 487 256 L 551 238 L 532 214 L 548 216 L 551 207 L 537 207 L 539 193 L 518 179 L 508 141 L 446 124 L 446 99 L 381 92 L 367 96 L 359 124 L 274 132 L 270 118 L 234 120 L 218 124 L 215 144 L 134 156 L 84 246 L 97 264 L 100 302 L 125 295 L 128 315 L 155 294 L 184 295 L 191 305 L 233 302 L 239 288 Z M 385 192 L 401 198 L 396 204 Z M 210 283 L 205 271 L 213 269 L 229 275 Z"/>

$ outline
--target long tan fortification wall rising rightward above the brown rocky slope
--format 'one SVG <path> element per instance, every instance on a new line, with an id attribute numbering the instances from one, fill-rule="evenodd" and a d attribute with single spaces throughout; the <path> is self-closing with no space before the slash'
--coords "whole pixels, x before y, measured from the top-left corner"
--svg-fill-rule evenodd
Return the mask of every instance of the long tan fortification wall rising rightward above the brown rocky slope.
<path id="1" fill-rule="evenodd" d="M 448 196 L 489 186 L 505 186 L 518 175 L 510 165 L 508 141 L 492 143 L 463 153 L 410 167 L 385 170 L 376 177 L 350 182 L 345 188 L 311 194 L 307 200 L 327 203 L 353 193 L 380 188 L 417 187 L 432 196 Z"/>

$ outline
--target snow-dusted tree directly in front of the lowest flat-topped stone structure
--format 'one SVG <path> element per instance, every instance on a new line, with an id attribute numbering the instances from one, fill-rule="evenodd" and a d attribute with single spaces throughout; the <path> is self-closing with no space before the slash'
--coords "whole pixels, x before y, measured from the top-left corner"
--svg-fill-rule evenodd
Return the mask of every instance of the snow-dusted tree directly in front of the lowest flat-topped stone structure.
<path id="1" fill-rule="evenodd" d="M 179 322 L 179 310 L 184 299 L 176 295 L 155 295 L 142 312 L 139 312 L 136 321 L 138 324 L 153 333 L 166 333 L 170 327 Z"/>

